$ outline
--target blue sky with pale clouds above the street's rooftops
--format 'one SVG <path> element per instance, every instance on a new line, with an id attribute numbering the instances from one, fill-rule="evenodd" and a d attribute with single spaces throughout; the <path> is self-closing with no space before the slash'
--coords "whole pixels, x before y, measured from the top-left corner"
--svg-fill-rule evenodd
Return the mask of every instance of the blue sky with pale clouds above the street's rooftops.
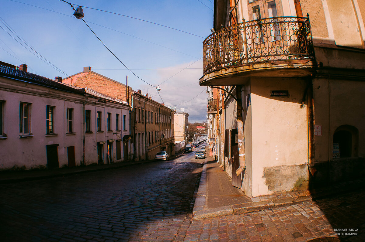
<path id="1" fill-rule="evenodd" d="M 82 6 L 91 30 L 62 0 L 1 0 L 0 61 L 27 64 L 29 72 L 50 79 L 85 66 L 124 84 L 128 76 L 133 90 L 177 111 L 184 108 L 189 122 L 206 120 L 207 93 L 199 78 L 213 0 L 66 2 Z"/>

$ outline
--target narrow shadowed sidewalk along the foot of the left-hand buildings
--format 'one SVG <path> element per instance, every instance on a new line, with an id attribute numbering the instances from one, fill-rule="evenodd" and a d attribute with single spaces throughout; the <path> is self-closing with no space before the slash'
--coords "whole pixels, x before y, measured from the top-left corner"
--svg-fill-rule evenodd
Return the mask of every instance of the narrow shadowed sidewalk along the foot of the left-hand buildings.
<path id="1" fill-rule="evenodd" d="M 181 156 L 182 153 L 177 153 L 170 159 Z M 1 183 L 12 183 L 12 182 L 23 182 L 29 180 L 38 180 L 51 177 L 60 177 L 84 172 L 101 171 L 106 169 L 116 169 L 125 167 L 127 165 L 135 165 L 153 162 L 154 160 L 142 160 L 142 161 L 122 161 L 112 164 L 100 164 L 100 165 L 86 165 L 77 167 L 65 167 L 57 169 L 35 169 L 35 170 L 22 170 L 22 171 L 1 171 L 0 172 L 0 184 Z"/>

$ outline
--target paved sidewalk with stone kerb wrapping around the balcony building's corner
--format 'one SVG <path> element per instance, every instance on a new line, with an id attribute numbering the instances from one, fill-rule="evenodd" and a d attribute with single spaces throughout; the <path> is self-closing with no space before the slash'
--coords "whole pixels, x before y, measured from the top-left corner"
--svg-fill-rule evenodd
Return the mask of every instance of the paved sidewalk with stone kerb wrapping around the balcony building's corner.
<path id="1" fill-rule="evenodd" d="M 351 184 L 351 186 L 349 186 Z M 214 158 L 207 157 L 204 162 L 199 189 L 193 208 L 194 219 L 214 218 L 231 214 L 260 211 L 273 207 L 288 206 L 305 201 L 312 201 L 339 192 L 347 192 L 364 186 L 360 183 L 347 182 L 336 184 L 331 189 L 315 191 L 285 192 L 250 199 L 241 189 L 232 186 L 232 179 L 219 168 Z M 349 189 L 351 187 L 351 189 Z"/>

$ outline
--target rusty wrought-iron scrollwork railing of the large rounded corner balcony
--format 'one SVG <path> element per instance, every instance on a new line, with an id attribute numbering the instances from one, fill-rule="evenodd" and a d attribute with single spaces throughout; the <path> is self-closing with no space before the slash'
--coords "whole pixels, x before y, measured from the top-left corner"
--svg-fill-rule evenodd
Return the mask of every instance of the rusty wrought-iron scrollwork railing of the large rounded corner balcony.
<path id="1" fill-rule="evenodd" d="M 222 28 L 203 42 L 204 75 L 227 67 L 314 58 L 309 17 L 274 17 Z"/>

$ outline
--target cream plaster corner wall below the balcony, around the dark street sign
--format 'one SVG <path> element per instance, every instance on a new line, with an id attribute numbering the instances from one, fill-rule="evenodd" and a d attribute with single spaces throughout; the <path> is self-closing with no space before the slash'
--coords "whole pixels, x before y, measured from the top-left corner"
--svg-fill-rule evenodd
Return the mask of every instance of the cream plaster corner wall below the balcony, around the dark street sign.
<path id="1" fill-rule="evenodd" d="M 295 79 L 251 79 L 252 196 L 291 191 L 308 181 L 306 83 Z M 289 97 L 270 97 L 288 90 Z"/>

